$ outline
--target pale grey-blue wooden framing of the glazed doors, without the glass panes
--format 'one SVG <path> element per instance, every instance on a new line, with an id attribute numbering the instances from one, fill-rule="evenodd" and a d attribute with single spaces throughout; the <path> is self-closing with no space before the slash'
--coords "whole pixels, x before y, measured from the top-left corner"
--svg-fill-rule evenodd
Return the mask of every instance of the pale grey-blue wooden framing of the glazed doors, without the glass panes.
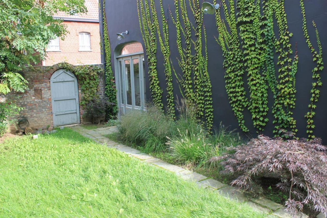
<path id="1" fill-rule="evenodd" d="M 135 85 L 134 85 L 134 66 L 133 66 L 133 59 L 139 59 L 139 83 L 140 83 L 140 103 L 141 106 L 135 106 Z M 126 109 L 130 110 L 145 110 L 145 73 L 143 68 L 143 59 L 144 59 L 144 53 L 133 53 L 128 55 L 119 55 L 115 58 L 115 78 L 116 78 L 116 91 L 117 91 L 117 103 L 118 103 L 118 118 L 121 116 L 121 112 L 126 114 Z M 132 99 L 132 105 L 127 104 L 127 91 L 126 91 L 126 73 L 125 73 L 125 61 L 129 60 L 130 69 L 130 81 L 131 81 L 131 99 Z M 119 66 L 119 62 L 121 61 L 121 66 Z M 122 69 L 122 73 L 120 72 L 120 69 Z M 123 77 L 123 78 L 122 78 Z M 121 82 L 123 84 L 123 87 L 121 86 Z M 122 103 L 121 99 L 121 90 L 123 91 L 123 100 L 124 103 Z"/>

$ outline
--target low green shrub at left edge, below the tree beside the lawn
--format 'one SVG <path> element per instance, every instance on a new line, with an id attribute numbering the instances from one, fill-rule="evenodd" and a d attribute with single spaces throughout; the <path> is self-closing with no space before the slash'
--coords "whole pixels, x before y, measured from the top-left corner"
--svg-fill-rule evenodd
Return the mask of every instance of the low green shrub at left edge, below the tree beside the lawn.
<path id="1" fill-rule="evenodd" d="M 8 124 L 12 122 L 12 120 L 9 121 L 9 118 L 18 114 L 22 109 L 13 102 L 0 102 L 0 137 L 6 133 Z"/>

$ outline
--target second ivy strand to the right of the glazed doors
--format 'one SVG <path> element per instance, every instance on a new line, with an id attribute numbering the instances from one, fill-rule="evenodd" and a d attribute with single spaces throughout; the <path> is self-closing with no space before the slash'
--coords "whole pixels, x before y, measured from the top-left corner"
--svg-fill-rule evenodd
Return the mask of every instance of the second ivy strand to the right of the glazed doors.
<path id="1" fill-rule="evenodd" d="M 146 0 L 147 1 L 147 0 Z M 158 38 L 160 43 L 160 49 L 163 54 L 163 65 L 164 74 L 166 77 L 166 91 L 167 91 L 167 114 L 172 118 L 175 118 L 175 108 L 174 108 L 174 93 L 173 93 L 173 77 L 172 69 L 170 65 L 170 48 L 169 48 L 169 38 L 168 38 L 168 22 L 164 15 L 162 0 L 160 0 L 160 12 L 162 19 L 162 30 L 159 27 L 159 20 L 157 15 L 157 10 L 154 4 L 154 0 L 150 0 L 150 9 L 152 13 L 153 23 L 156 25 Z"/>

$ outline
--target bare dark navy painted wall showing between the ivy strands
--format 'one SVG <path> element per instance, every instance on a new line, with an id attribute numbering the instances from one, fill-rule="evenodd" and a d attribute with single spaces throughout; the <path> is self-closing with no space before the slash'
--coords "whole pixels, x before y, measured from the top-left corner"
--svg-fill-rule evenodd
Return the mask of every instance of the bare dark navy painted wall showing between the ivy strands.
<path id="1" fill-rule="evenodd" d="M 157 11 L 160 11 L 159 0 L 155 0 Z M 317 24 L 319 31 L 319 36 L 323 49 L 323 60 L 327 64 L 327 1 L 326 0 L 304 0 L 307 27 L 310 35 L 311 43 L 317 47 L 317 41 L 315 37 L 315 31 L 312 26 L 312 20 Z M 166 15 L 168 16 L 168 9 L 170 8 L 174 14 L 175 6 L 173 0 L 164 0 L 163 7 Z M 126 43 L 129 41 L 141 42 L 144 48 L 144 43 L 142 40 L 141 31 L 139 28 L 139 20 L 137 15 L 137 3 L 136 1 L 130 0 L 106 0 L 105 5 L 106 16 L 108 21 L 108 32 L 110 37 L 111 49 L 112 49 L 112 64 L 113 62 L 113 51 L 115 47 L 119 44 Z M 288 30 L 293 33 L 291 37 L 291 44 L 293 52 L 295 52 L 295 43 L 298 44 L 298 54 L 299 54 L 299 64 L 298 72 L 296 75 L 296 108 L 293 110 L 294 118 L 297 121 L 298 136 L 306 137 L 306 119 L 304 115 L 308 112 L 308 104 L 310 103 L 310 90 L 312 87 L 312 73 L 311 70 L 315 67 L 312 61 L 311 52 L 305 42 L 302 31 L 302 14 L 300 8 L 299 0 L 287 0 L 285 1 L 285 11 L 287 14 Z M 189 16 L 191 12 L 189 13 Z M 191 19 L 191 17 L 190 17 Z M 159 21 L 161 18 L 159 17 Z M 192 20 L 192 19 L 191 19 Z M 205 14 L 204 24 L 207 30 L 207 43 L 208 43 L 208 71 L 212 84 L 212 97 L 214 106 L 214 124 L 219 126 L 222 122 L 225 126 L 231 126 L 232 129 L 238 128 L 238 122 L 233 115 L 232 108 L 229 104 L 229 100 L 225 89 L 225 79 L 223 68 L 223 56 L 220 46 L 215 41 L 215 36 L 217 37 L 217 27 L 215 25 L 215 15 Z M 169 25 L 169 44 L 171 50 L 171 59 L 173 61 L 174 67 L 177 73 L 181 73 L 178 67 L 177 57 L 178 51 L 176 46 L 176 27 L 172 24 L 171 18 L 168 20 Z M 277 27 L 276 27 L 277 29 Z M 129 34 L 118 41 L 116 33 L 123 32 L 125 30 L 129 31 Z M 293 55 L 290 56 L 293 58 Z M 145 54 L 146 59 L 146 54 Z M 157 48 L 157 70 L 158 77 L 160 81 L 160 86 L 163 88 L 163 103 L 166 102 L 165 95 L 165 76 L 163 73 L 163 56 L 160 51 L 160 46 L 158 42 Z M 277 56 L 275 57 L 277 61 Z M 147 64 L 145 67 L 147 76 Z M 317 103 L 316 116 L 314 119 L 314 124 L 316 129 L 314 134 L 321 137 L 324 143 L 327 143 L 327 129 L 325 125 L 327 124 L 327 75 L 326 67 L 321 72 L 321 80 L 323 85 L 320 89 L 320 98 Z M 247 81 L 245 81 L 245 88 L 247 89 Z M 147 100 L 150 101 L 150 90 L 149 81 L 146 81 L 146 96 Z M 176 79 L 174 78 L 174 95 L 179 95 L 178 85 Z M 271 107 L 273 104 L 272 94 L 269 90 L 269 122 L 265 128 L 264 134 L 272 136 L 272 130 L 274 125 L 272 124 L 273 117 L 271 114 Z M 255 129 L 253 128 L 253 123 L 251 120 L 251 115 L 248 110 L 245 110 L 245 120 L 246 126 L 250 129 L 252 136 L 256 136 Z"/>

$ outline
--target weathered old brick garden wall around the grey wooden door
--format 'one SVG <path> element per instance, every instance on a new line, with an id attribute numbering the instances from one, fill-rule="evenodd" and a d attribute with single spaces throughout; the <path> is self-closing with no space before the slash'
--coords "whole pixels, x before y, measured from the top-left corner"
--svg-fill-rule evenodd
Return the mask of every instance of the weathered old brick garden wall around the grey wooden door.
<path id="1" fill-rule="evenodd" d="M 97 64 L 95 66 L 103 67 L 102 64 Z M 46 127 L 47 125 L 53 126 L 50 78 L 58 69 L 60 69 L 60 67 L 57 64 L 53 66 L 34 66 L 26 68 L 23 72 L 23 76 L 28 81 L 29 89 L 24 93 L 11 93 L 6 96 L 7 98 L 17 98 L 17 106 L 24 107 L 24 110 L 21 111 L 18 116 L 25 116 L 28 119 L 29 126 L 33 130 Z M 100 97 L 104 96 L 103 75 L 99 75 L 99 86 L 97 91 Z M 78 93 L 80 101 L 82 94 L 79 83 Z M 82 117 L 83 109 L 81 106 L 79 106 L 79 111 L 81 123 L 88 122 L 88 120 Z M 13 130 L 14 128 L 11 127 L 11 131 Z"/>

